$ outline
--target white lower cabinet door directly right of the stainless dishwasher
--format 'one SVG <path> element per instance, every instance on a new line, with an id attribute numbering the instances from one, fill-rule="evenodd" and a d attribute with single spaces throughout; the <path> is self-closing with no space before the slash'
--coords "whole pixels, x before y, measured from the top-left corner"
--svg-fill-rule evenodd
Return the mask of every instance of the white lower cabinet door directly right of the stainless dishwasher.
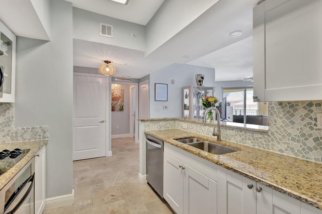
<path id="1" fill-rule="evenodd" d="M 163 196 L 178 214 L 183 213 L 183 163 L 164 152 Z"/>

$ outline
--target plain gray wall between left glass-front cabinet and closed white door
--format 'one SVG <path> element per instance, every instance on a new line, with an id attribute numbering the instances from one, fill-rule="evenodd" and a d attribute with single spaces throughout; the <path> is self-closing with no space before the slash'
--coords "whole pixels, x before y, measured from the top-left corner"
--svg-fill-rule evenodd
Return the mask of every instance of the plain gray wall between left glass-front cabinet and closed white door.
<path id="1" fill-rule="evenodd" d="M 72 4 L 51 1 L 51 41 L 17 39 L 15 127 L 49 126 L 46 198 L 72 193 Z"/>

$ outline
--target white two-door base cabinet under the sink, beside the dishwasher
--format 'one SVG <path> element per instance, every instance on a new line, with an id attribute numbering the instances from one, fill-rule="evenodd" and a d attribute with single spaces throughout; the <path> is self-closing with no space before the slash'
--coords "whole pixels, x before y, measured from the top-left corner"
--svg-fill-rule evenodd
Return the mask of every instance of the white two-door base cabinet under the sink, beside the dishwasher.
<path id="1" fill-rule="evenodd" d="M 189 160 L 187 157 L 180 161 L 177 159 L 180 159 L 179 153 L 175 155 L 174 151 L 170 151 L 171 154 L 168 154 L 167 151 L 169 151 L 169 147 L 165 144 L 164 198 L 170 206 L 178 214 L 217 213 L 217 183 L 197 171 L 198 169 L 200 171 L 208 170 L 209 176 L 214 177 L 212 175 L 216 173 L 216 170 L 207 166 L 199 168 L 195 160 Z M 194 168 L 189 166 L 190 163 L 194 165 Z"/>

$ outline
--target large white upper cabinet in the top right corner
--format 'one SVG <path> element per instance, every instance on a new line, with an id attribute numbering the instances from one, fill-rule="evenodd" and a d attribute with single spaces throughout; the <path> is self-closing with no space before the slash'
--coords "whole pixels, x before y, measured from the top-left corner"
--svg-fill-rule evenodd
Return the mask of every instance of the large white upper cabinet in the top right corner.
<path id="1" fill-rule="evenodd" d="M 254 100 L 322 99 L 322 1 L 266 0 L 253 15 Z"/>

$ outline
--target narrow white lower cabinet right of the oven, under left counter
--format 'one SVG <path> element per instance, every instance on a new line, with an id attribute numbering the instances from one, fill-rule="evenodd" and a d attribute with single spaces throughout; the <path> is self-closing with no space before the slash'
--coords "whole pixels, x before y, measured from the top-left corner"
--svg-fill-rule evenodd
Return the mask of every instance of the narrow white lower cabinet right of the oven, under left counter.
<path id="1" fill-rule="evenodd" d="M 46 146 L 35 157 L 35 213 L 41 214 L 46 197 Z"/>

